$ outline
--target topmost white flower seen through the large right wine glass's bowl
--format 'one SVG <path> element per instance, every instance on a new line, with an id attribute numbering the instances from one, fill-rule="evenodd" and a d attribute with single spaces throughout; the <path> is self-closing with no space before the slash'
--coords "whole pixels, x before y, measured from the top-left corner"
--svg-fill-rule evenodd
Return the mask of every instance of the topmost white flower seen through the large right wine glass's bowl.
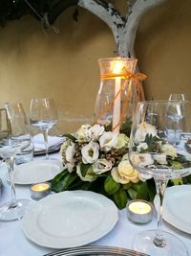
<path id="1" fill-rule="evenodd" d="M 157 129 L 156 127 L 149 125 L 146 122 L 142 122 L 138 125 L 138 129 L 135 134 L 135 142 L 143 142 L 147 134 L 157 136 Z"/>

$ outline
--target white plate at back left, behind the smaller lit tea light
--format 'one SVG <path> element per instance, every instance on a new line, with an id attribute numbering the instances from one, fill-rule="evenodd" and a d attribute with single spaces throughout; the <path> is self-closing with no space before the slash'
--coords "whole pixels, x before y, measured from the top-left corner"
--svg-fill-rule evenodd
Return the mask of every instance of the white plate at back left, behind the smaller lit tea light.
<path id="1" fill-rule="evenodd" d="M 63 169 L 63 165 L 59 160 L 32 161 L 15 166 L 13 179 L 15 184 L 20 185 L 45 182 L 53 179 L 53 177 L 58 175 Z"/>

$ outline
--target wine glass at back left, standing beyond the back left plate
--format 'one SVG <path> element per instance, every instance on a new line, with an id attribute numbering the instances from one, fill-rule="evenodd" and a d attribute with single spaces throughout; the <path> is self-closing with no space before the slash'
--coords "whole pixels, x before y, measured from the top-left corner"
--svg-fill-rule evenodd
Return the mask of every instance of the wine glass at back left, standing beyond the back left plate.
<path id="1" fill-rule="evenodd" d="M 31 102 L 30 121 L 34 128 L 42 130 L 46 159 L 49 159 L 48 131 L 57 124 L 57 111 L 52 98 L 34 98 Z"/>

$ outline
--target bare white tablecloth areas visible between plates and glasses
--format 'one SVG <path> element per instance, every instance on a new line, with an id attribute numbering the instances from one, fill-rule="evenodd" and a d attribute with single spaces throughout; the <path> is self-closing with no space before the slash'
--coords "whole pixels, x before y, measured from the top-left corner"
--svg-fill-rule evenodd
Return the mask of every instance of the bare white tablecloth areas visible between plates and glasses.
<path id="1" fill-rule="evenodd" d="M 44 155 L 35 156 L 33 161 L 43 159 L 44 157 Z M 51 157 L 61 160 L 59 152 L 52 153 Z M 3 162 L 0 164 L 0 178 L 3 182 L 0 204 L 3 204 L 11 198 L 11 186 L 7 181 L 7 167 Z M 15 190 L 17 198 L 31 199 L 30 185 L 16 184 Z M 35 204 L 36 201 L 32 200 L 32 203 Z M 118 210 L 118 220 L 114 228 L 103 237 L 91 243 L 91 245 L 109 245 L 131 249 L 131 244 L 138 232 L 148 229 L 155 229 L 156 227 L 156 213 L 154 214 L 152 221 L 146 224 L 137 224 L 133 221 L 129 221 L 127 218 L 126 209 Z M 190 253 L 189 255 L 191 255 L 191 234 L 180 231 L 166 221 L 163 221 L 163 230 L 179 237 L 180 240 L 187 246 Z M 22 219 L 17 221 L 0 221 L 1 256 L 43 256 L 53 251 L 55 251 L 55 248 L 40 246 L 27 239 L 22 229 Z"/>

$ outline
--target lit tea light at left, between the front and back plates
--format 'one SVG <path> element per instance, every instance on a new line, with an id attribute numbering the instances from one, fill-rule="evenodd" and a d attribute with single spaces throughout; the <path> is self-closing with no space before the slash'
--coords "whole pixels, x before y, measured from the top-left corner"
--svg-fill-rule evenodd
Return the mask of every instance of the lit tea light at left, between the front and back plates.
<path id="1" fill-rule="evenodd" d="M 51 192 L 51 184 L 48 182 L 33 184 L 30 188 L 31 197 L 34 200 L 45 198 Z"/>

